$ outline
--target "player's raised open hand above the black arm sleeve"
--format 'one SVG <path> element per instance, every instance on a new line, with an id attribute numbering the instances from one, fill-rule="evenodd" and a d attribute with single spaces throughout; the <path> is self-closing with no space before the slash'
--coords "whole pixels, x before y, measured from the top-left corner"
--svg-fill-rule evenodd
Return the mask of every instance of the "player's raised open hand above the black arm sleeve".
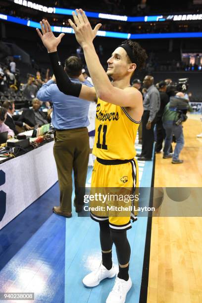
<path id="1" fill-rule="evenodd" d="M 48 52 L 56 51 L 57 46 L 60 43 L 64 34 L 62 33 L 58 37 L 55 37 L 52 33 L 48 20 L 43 19 L 42 21 L 40 21 L 40 25 L 41 25 L 42 33 L 38 28 L 37 28 L 37 33 L 39 37 L 42 39 L 44 46 L 47 48 Z"/>

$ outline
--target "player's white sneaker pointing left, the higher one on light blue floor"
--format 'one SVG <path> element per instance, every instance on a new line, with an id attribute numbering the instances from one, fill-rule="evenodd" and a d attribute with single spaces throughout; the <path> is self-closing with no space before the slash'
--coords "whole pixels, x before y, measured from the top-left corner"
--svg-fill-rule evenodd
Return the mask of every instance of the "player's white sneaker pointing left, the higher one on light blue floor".
<path id="1" fill-rule="evenodd" d="M 113 266 L 110 270 L 108 270 L 101 264 L 101 267 L 99 269 L 92 271 L 90 274 L 83 278 L 83 284 L 86 287 L 95 287 L 99 285 L 103 279 L 113 278 L 115 275 L 116 271 Z"/>

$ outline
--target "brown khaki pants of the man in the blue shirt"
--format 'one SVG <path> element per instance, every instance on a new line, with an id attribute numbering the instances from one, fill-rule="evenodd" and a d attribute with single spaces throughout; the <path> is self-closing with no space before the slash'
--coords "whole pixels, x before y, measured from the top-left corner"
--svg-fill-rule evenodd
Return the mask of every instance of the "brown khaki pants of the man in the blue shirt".
<path id="1" fill-rule="evenodd" d="M 75 206 L 84 203 L 89 160 L 89 135 L 86 127 L 55 131 L 53 147 L 60 190 L 60 209 L 72 211 L 72 169 L 74 171 Z"/>

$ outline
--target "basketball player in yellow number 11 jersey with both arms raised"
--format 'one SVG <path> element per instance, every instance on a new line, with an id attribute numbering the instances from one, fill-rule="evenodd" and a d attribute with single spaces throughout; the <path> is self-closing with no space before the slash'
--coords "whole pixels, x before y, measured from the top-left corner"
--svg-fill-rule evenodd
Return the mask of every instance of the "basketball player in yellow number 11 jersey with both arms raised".
<path id="1" fill-rule="evenodd" d="M 73 12 L 75 24 L 69 20 L 75 36 L 82 47 L 94 87 L 71 83 L 61 66 L 57 46 L 64 34 L 57 38 L 51 32 L 46 20 L 40 22 L 42 34 L 37 29 L 42 42 L 47 48 L 53 72 L 59 90 L 89 101 L 98 97 L 96 113 L 96 134 L 93 153 L 97 156 L 92 173 L 93 188 L 134 188 L 138 184 L 138 165 L 134 158 L 135 138 L 143 114 L 142 94 L 130 86 L 130 79 L 137 68 L 143 67 L 147 54 L 141 46 L 130 40 L 116 48 L 107 60 L 105 73 L 93 45 L 93 40 L 101 27 L 91 28 L 82 9 Z M 109 81 L 108 76 L 112 78 Z M 114 243 L 119 263 L 119 272 L 114 287 L 106 303 L 124 303 L 132 286 L 129 277 L 130 245 L 126 231 L 131 228 L 131 216 L 102 216 L 91 212 L 91 217 L 100 224 L 102 251 L 101 267 L 88 274 L 83 283 L 86 287 L 95 287 L 105 278 L 115 276 L 111 251 Z"/>

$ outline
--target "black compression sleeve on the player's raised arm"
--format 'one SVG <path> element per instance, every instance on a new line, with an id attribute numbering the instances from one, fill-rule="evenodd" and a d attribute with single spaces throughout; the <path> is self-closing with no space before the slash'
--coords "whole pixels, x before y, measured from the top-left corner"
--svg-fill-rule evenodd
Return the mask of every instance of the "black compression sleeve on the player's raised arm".
<path id="1" fill-rule="evenodd" d="M 65 73 L 61 65 L 57 51 L 50 52 L 49 57 L 50 57 L 53 73 L 56 79 L 56 84 L 60 92 L 66 95 L 79 97 L 82 84 L 71 82 L 71 80 L 69 79 L 68 75 Z"/>

